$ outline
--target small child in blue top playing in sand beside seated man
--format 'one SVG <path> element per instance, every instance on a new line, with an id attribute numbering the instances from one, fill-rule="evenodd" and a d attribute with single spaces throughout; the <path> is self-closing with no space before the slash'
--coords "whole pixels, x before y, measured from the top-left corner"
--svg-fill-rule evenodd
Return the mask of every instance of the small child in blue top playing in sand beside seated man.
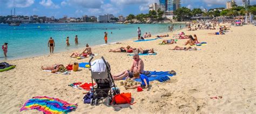
<path id="1" fill-rule="evenodd" d="M 135 89 L 138 87 L 142 87 L 142 88 L 148 88 L 149 87 L 149 79 L 147 78 L 147 76 L 145 75 L 140 75 L 139 72 L 134 72 L 133 73 L 133 77 L 136 79 L 140 79 L 142 80 L 142 84 L 138 84 L 132 87 L 125 87 L 125 89 Z"/>

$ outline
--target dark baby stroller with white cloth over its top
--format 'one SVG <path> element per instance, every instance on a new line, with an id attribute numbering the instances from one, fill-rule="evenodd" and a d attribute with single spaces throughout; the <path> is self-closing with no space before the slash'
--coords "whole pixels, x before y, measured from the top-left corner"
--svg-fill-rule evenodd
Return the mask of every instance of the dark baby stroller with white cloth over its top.
<path id="1" fill-rule="evenodd" d="M 93 57 L 89 61 L 92 85 L 93 80 L 97 86 L 92 87 L 93 98 L 91 98 L 91 105 L 97 105 L 100 100 L 106 98 L 107 105 L 110 105 L 114 95 L 120 94 L 120 91 L 116 88 L 114 80 L 110 73 L 110 65 L 102 56 L 102 59 L 91 62 Z"/>

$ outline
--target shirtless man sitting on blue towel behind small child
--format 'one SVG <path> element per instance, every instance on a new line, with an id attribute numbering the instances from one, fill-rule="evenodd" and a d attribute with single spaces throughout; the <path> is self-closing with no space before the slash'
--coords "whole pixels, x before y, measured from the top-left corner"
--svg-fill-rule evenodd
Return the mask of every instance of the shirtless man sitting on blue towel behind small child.
<path id="1" fill-rule="evenodd" d="M 130 70 L 124 70 L 123 72 L 113 75 L 114 80 L 122 80 L 124 77 L 128 78 L 130 77 L 131 79 L 133 78 L 133 73 L 134 72 L 139 72 L 140 74 L 143 74 L 144 71 L 144 62 L 142 59 L 139 58 L 138 53 L 134 53 L 133 55 L 133 62 Z"/>

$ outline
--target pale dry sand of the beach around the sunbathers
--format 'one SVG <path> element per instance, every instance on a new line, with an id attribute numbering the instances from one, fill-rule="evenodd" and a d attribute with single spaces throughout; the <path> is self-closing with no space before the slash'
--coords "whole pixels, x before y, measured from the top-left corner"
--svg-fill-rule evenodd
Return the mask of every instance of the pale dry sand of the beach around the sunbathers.
<path id="1" fill-rule="evenodd" d="M 156 49 L 157 55 L 140 56 L 145 70 L 177 72 L 176 76 L 170 77 L 170 81 L 150 82 L 152 88 L 149 91 L 137 92 L 136 89 L 125 90 L 124 87 L 119 87 L 121 92 L 131 92 L 136 104 L 120 105 L 122 108 L 107 106 L 106 103 L 99 103 L 97 106 L 84 104 L 82 98 L 86 91 L 71 88 L 68 84 L 91 82 L 88 69 L 79 68 L 79 72 L 71 72 L 71 75 L 41 70 L 41 66 L 55 63 L 66 66 L 73 62 L 88 62 L 90 59 L 70 58 L 70 51 L 6 61 L 17 67 L 0 73 L 0 113 L 19 113 L 22 105 L 35 96 L 49 96 L 77 103 L 78 108 L 71 113 L 256 113 L 256 27 L 232 26 L 225 35 L 207 34 L 218 30 L 181 31 L 188 35 L 197 34 L 199 42 L 207 42 L 207 45 L 198 47 L 201 49 L 199 51 L 169 50 L 177 45 L 184 46 L 187 39 L 179 39 L 177 44 L 158 45 L 164 39 L 172 39 L 171 35 L 153 41 L 129 40 L 122 44 L 92 47 L 92 52 L 98 54 L 95 59 L 104 56 L 110 63 L 112 74 L 129 69 L 132 56 L 127 56 L 126 53 L 109 53 L 109 49 L 127 45 Z M 83 49 L 77 51 L 82 52 Z M 215 96 L 222 98 L 210 98 Z M 42 112 L 28 110 L 22 113 Z"/>

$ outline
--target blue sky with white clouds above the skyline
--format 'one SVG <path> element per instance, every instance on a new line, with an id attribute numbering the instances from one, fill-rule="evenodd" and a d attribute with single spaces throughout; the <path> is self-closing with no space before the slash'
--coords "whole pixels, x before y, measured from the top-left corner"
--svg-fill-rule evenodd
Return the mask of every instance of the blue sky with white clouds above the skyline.
<path id="1" fill-rule="evenodd" d="M 230 0 L 181 0 L 181 6 L 187 8 L 219 8 L 226 7 Z M 235 0 L 241 5 L 242 0 Z M 0 16 L 10 15 L 16 8 L 16 15 L 55 16 L 62 18 L 82 17 L 83 15 L 98 16 L 106 13 L 114 16 L 137 15 L 149 12 L 149 4 L 159 3 L 159 0 L 0 0 Z M 256 4 L 256 0 L 251 0 Z M 14 10 L 12 10 L 14 11 Z"/>

